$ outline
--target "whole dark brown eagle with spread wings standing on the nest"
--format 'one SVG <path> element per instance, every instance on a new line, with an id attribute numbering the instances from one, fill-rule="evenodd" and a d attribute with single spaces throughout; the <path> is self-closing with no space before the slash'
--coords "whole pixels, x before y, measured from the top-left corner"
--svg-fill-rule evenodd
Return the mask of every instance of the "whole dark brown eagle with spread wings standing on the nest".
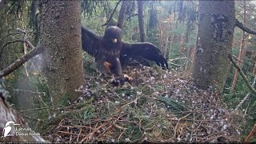
<path id="1" fill-rule="evenodd" d="M 103 36 L 82 26 L 82 49 L 95 58 L 97 69 L 105 74 L 121 76 L 129 58 L 153 61 L 168 69 L 166 59 L 156 46 L 150 42 L 122 42 L 122 30 L 118 26 L 107 27 Z"/>

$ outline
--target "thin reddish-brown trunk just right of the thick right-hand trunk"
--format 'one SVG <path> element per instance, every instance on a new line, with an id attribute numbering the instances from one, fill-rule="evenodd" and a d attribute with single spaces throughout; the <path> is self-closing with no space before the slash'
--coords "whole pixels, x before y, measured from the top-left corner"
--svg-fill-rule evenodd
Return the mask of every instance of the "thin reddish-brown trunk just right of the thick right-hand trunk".
<path id="1" fill-rule="evenodd" d="M 244 0 L 243 1 L 243 25 L 245 26 L 246 25 L 246 1 Z M 243 56 L 244 56 L 244 53 L 243 53 L 243 48 L 245 46 L 245 37 L 246 37 L 246 32 L 242 30 L 242 37 L 241 37 L 241 42 L 240 42 L 240 51 L 239 51 L 239 55 L 238 55 L 238 66 L 241 66 L 242 67 L 242 59 L 243 59 Z M 235 69 L 235 72 L 234 72 L 234 79 L 233 79 L 233 82 L 232 82 L 232 86 L 231 86 L 231 90 L 230 92 L 232 92 L 234 90 L 234 87 L 235 87 L 235 84 L 237 83 L 238 81 L 238 70 Z"/>

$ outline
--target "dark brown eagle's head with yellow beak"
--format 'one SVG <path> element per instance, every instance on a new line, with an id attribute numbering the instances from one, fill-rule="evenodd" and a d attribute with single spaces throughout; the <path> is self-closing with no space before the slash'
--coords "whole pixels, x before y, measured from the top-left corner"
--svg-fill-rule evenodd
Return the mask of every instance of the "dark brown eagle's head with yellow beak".
<path id="1" fill-rule="evenodd" d="M 122 30 L 118 26 L 109 26 L 105 30 L 103 39 L 108 44 L 118 45 L 122 42 Z"/>

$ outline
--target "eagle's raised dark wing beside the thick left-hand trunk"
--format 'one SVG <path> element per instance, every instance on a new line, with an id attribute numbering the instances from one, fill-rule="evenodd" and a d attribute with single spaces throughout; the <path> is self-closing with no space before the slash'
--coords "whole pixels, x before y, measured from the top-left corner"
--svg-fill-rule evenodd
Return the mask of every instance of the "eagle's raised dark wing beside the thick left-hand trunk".
<path id="1" fill-rule="evenodd" d="M 82 32 L 82 50 L 86 51 L 92 57 L 96 58 L 102 43 L 102 37 L 95 34 L 93 31 L 81 27 Z"/>

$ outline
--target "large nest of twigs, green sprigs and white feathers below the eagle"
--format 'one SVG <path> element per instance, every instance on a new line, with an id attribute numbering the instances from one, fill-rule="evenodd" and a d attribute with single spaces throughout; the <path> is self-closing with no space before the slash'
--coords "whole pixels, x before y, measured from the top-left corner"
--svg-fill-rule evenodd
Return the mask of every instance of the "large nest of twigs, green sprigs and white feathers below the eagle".
<path id="1" fill-rule="evenodd" d="M 88 67 L 81 98 L 43 126 L 51 142 L 241 141 L 241 117 L 218 90 L 192 86 L 187 72 L 128 67 L 132 82 L 115 87 Z"/>

